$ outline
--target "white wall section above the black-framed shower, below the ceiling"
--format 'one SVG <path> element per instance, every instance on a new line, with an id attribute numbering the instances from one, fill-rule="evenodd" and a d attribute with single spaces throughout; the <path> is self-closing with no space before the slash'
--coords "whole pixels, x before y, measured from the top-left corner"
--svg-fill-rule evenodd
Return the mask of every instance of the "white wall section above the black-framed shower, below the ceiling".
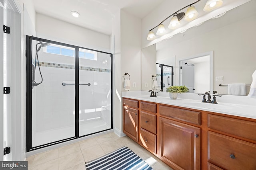
<path id="1" fill-rule="evenodd" d="M 37 37 L 110 52 L 110 36 L 36 13 Z"/>

